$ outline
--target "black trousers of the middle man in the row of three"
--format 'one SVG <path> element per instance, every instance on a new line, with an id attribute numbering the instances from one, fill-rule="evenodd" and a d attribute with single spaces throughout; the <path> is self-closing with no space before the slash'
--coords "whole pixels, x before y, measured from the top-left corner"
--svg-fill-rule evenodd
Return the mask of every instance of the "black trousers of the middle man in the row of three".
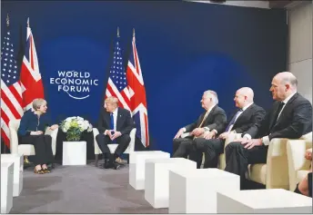
<path id="1" fill-rule="evenodd" d="M 189 159 L 197 162 L 197 169 L 202 163 L 202 153 L 205 153 L 203 168 L 217 168 L 218 155 L 224 152 L 225 141 L 221 139 L 207 140 L 197 138 L 194 140 L 193 149 L 190 151 Z"/>

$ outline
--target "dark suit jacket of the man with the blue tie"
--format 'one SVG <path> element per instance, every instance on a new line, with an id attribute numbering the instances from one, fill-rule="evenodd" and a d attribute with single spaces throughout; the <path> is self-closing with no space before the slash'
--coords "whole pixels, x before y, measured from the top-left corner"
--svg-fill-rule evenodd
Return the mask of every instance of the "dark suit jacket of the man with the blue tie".
<path id="1" fill-rule="evenodd" d="M 100 118 L 98 121 L 97 129 L 100 133 L 110 130 L 110 112 L 106 112 L 106 109 L 103 109 L 100 113 Z M 116 119 L 116 131 L 121 132 L 122 134 L 129 134 L 135 124 L 130 116 L 130 112 L 124 108 L 118 107 L 117 110 L 117 119 Z"/>

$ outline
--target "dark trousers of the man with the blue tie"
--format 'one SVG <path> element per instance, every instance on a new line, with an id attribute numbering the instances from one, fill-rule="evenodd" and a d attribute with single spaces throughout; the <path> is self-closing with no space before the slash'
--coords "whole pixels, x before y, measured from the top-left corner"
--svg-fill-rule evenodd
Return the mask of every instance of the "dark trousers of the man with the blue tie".
<path id="1" fill-rule="evenodd" d="M 114 157 L 112 159 L 116 159 L 117 157 L 120 157 L 120 155 L 126 151 L 129 142 L 130 142 L 130 137 L 128 134 L 122 134 L 121 136 L 117 137 L 115 140 L 118 143 L 118 146 L 116 148 L 116 151 L 114 153 Z M 96 142 L 100 148 L 100 150 L 102 151 L 102 153 L 105 156 L 105 159 L 110 159 L 111 160 L 111 152 L 107 146 L 107 144 L 110 143 L 114 143 L 111 141 L 110 137 L 103 134 L 103 133 L 99 133 L 98 135 L 96 135 Z"/>

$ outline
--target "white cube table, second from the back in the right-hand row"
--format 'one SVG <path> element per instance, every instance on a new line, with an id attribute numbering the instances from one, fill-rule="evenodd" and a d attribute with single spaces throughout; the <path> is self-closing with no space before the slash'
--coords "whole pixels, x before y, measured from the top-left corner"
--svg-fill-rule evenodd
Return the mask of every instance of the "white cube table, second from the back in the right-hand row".
<path id="1" fill-rule="evenodd" d="M 145 199 L 154 207 L 168 208 L 168 171 L 197 169 L 197 162 L 185 158 L 146 160 Z"/>

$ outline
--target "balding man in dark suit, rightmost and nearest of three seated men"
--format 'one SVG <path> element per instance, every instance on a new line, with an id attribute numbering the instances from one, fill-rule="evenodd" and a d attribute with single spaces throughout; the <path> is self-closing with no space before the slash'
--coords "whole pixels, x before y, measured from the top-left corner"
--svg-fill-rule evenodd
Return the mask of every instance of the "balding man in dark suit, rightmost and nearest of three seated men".
<path id="1" fill-rule="evenodd" d="M 267 162 L 270 140 L 298 139 L 312 132 L 312 105 L 297 93 L 297 85 L 292 73 L 275 75 L 269 91 L 276 102 L 265 119 L 257 124 L 258 139 L 243 138 L 227 145 L 225 171 L 240 175 L 241 185 L 245 182 L 248 164 Z"/>

